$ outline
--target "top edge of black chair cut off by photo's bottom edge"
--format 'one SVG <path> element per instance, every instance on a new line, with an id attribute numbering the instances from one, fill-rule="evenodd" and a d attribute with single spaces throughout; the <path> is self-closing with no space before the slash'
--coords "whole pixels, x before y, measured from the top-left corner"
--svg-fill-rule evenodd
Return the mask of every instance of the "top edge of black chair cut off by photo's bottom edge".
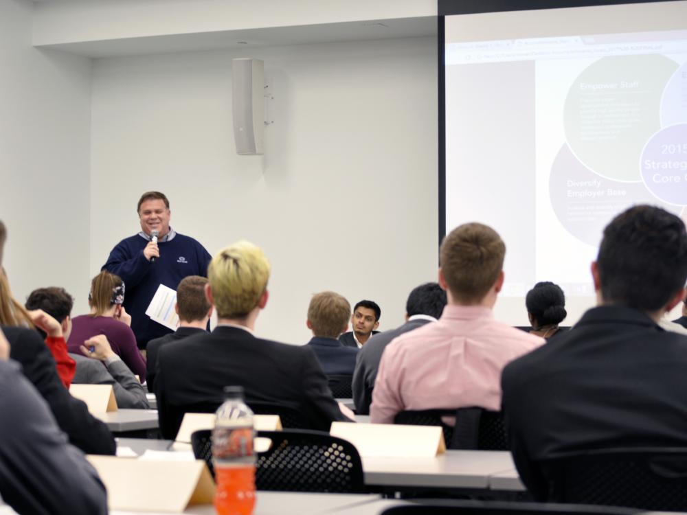
<path id="1" fill-rule="evenodd" d="M 381 515 L 633 515 L 635 510 L 619 507 L 508 503 L 503 501 L 460 501 L 423 499 L 412 504 L 388 507 Z"/>

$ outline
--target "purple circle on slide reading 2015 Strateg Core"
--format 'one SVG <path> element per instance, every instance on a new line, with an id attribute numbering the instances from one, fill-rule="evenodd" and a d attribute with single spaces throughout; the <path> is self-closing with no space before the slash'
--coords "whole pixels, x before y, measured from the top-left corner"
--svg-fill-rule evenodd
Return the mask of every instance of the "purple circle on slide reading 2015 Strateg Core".
<path id="1" fill-rule="evenodd" d="M 649 138 L 640 169 L 646 188 L 657 198 L 687 205 L 687 124 L 671 125 Z"/>

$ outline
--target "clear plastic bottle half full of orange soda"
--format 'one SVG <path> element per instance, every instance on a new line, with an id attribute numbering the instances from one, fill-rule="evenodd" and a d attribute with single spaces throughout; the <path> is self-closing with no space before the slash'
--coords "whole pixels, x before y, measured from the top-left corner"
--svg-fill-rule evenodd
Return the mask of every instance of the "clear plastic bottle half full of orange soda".
<path id="1" fill-rule="evenodd" d="M 225 387 L 224 393 L 212 431 L 215 510 L 219 515 L 250 515 L 256 501 L 253 412 L 243 402 L 243 387 Z"/>

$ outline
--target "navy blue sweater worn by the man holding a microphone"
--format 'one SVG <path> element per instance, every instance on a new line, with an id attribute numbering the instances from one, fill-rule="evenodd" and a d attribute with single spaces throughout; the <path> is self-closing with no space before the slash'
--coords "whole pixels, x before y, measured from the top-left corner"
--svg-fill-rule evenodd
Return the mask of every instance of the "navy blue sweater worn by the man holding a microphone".
<path id="1" fill-rule="evenodd" d="M 177 233 L 172 240 L 158 242 L 160 257 L 155 263 L 146 260 L 143 249 L 148 240 L 131 236 L 112 249 L 102 270 L 122 277 L 126 285 L 124 308 L 131 314 L 131 329 L 136 335 L 139 348 L 145 349 L 148 341 L 172 332 L 150 320 L 146 309 L 160 284 L 177 290 L 179 282 L 189 275 L 207 277 L 207 265 L 212 257 L 203 245 Z"/>

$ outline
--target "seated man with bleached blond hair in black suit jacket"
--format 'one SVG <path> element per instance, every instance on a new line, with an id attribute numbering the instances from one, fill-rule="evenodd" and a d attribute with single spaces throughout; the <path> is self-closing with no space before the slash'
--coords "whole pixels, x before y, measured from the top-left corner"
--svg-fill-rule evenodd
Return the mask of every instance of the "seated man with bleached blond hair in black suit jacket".
<path id="1" fill-rule="evenodd" d="M 219 406 L 229 385 L 242 386 L 249 404 L 275 402 L 297 409 L 319 431 L 328 431 L 335 420 L 348 420 L 311 348 L 254 335 L 258 314 L 267 305 L 269 271 L 262 251 L 245 241 L 212 258 L 205 293 L 217 310 L 217 327 L 165 345 L 158 354 L 155 395 L 164 438 L 174 438 L 188 407 Z"/>

